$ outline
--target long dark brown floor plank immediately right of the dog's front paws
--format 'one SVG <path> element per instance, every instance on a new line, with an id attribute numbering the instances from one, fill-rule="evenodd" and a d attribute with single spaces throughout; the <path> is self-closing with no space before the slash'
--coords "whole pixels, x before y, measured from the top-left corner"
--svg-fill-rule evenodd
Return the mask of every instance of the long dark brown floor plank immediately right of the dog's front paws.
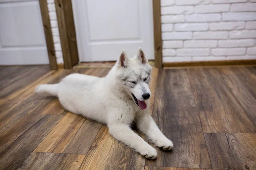
<path id="1" fill-rule="evenodd" d="M 159 70 L 153 118 L 174 149 L 157 148 L 157 160 L 146 166 L 211 168 L 186 69 Z"/>

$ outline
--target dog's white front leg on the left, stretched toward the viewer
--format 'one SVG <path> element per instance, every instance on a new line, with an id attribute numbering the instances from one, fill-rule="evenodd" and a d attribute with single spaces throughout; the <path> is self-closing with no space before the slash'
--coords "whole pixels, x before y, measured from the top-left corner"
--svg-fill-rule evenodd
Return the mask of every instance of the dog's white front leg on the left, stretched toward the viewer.
<path id="1" fill-rule="evenodd" d="M 128 145 L 135 151 L 139 152 L 141 155 L 148 159 L 156 159 L 157 152 L 151 147 L 147 142 L 145 142 L 137 133 L 135 133 L 131 128 L 122 123 L 117 123 L 114 125 L 109 125 L 109 133 L 124 144 Z"/>

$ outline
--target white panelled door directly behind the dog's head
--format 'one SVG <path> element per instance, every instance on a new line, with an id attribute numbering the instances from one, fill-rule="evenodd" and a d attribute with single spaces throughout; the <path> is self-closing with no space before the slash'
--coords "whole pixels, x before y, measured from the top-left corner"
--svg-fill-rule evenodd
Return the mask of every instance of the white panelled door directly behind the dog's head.
<path id="1" fill-rule="evenodd" d="M 154 59 L 152 0 L 72 0 L 79 58 L 115 61 L 139 47 Z"/>

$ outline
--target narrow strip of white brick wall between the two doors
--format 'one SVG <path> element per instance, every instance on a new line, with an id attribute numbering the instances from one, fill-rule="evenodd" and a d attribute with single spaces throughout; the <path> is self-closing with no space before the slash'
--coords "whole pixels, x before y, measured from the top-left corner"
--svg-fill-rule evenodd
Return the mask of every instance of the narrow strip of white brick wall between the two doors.
<path id="1" fill-rule="evenodd" d="M 58 21 L 57 21 L 54 0 L 47 0 L 47 5 L 49 10 L 50 23 L 52 27 L 52 36 L 53 36 L 53 42 L 54 42 L 54 48 L 55 48 L 55 55 L 57 58 L 57 63 L 61 64 L 63 63 L 63 57 L 62 57 L 61 40 L 59 36 Z"/>

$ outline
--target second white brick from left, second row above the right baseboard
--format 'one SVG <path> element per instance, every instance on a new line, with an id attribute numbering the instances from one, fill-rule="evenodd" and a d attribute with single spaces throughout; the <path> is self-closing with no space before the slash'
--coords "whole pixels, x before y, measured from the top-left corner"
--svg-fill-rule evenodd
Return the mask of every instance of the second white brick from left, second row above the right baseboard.
<path id="1" fill-rule="evenodd" d="M 209 48 L 181 48 L 176 50 L 177 56 L 209 56 Z"/>

